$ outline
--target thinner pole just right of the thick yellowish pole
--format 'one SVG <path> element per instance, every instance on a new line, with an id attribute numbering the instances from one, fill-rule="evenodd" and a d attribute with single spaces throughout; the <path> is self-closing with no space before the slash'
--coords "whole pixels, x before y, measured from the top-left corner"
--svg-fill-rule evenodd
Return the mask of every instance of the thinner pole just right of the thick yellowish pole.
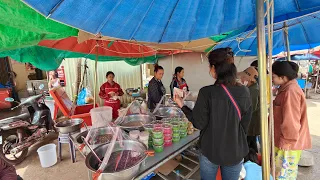
<path id="1" fill-rule="evenodd" d="M 271 151 L 271 170 L 272 170 L 272 176 L 275 177 L 275 148 L 274 148 L 274 118 L 273 118 L 273 89 L 272 89 L 272 49 L 273 49 L 273 18 L 274 18 L 274 1 L 271 0 L 271 6 L 270 6 L 270 0 L 267 0 L 267 7 L 270 7 L 270 10 L 268 10 L 268 16 L 267 16 L 267 25 L 268 25 L 268 70 L 269 74 L 269 137 L 270 137 L 270 151 Z M 271 15 L 270 15 L 271 13 Z"/>

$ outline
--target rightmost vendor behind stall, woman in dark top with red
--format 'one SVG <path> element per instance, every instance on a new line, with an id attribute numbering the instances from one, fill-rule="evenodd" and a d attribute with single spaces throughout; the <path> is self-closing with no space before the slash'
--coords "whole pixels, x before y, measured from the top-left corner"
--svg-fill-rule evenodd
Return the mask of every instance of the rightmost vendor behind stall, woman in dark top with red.
<path id="1" fill-rule="evenodd" d="M 178 88 L 182 89 L 184 92 L 189 91 L 188 84 L 185 79 L 183 79 L 184 76 L 184 69 L 181 66 L 176 67 L 174 70 L 172 82 L 170 84 L 170 90 L 171 90 L 171 97 L 173 98 L 173 89 Z"/>

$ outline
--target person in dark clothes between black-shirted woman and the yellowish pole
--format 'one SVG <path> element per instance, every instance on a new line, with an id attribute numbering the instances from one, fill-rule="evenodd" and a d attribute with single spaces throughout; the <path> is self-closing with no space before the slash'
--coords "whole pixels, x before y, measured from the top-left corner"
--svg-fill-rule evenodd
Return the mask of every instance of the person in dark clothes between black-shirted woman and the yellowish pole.
<path id="1" fill-rule="evenodd" d="M 252 118 L 248 130 L 248 146 L 258 153 L 257 136 L 261 134 L 260 127 L 260 91 L 258 85 L 258 71 L 254 67 L 249 67 L 238 73 L 241 83 L 249 87 L 252 102 Z"/>

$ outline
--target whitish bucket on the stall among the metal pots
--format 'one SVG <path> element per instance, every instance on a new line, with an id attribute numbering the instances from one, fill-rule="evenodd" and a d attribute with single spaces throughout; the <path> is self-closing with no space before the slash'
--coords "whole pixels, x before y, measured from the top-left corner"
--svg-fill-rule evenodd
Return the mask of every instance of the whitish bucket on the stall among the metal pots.
<path id="1" fill-rule="evenodd" d="M 106 127 L 112 121 L 112 107 L 101 106 L 90 110 L 92 127 Z"/>

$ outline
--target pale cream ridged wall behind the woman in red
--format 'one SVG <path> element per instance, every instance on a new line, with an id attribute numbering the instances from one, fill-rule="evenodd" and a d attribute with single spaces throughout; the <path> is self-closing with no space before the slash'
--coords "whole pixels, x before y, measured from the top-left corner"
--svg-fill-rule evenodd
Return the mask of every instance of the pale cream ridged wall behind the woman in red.
<path id="1" fill-rule="evenodd" d="M 84 60 L 82 59 L 82 64 L 84 64 Z M 88 87 L 94 89 L 94 65 L 95 61 L 88 59 Z M 76 81 L 76 68 L 77 68 L 77 59 L 76 58 L 68 58 L 65 59 L 62 64 L 65 69 L 66 74 L 66 92 L 69 97 L 73 97 L 73 89 Z M 83 69 L 83 68 L 82 68 Z M 98 62 L 98 83 L 97 83 L 97 95 L 99 93 L 100 86 L 106 82 L 106 73 L 108 71 L 113 71 L 115 73 L 115 81 L 120 84 L 123 91 L 127 88 L 138 88 L 141 86 L 141 72 L 140 66 L 131 66 L 124 61 L 117 62 Z M 103 101 L 98 97 L 98 102 L 100 105 L 103 104 Z M 124 95 L 121 98 L 122 103 L 127 104 L 131 101 L 131 98 Z"/>

